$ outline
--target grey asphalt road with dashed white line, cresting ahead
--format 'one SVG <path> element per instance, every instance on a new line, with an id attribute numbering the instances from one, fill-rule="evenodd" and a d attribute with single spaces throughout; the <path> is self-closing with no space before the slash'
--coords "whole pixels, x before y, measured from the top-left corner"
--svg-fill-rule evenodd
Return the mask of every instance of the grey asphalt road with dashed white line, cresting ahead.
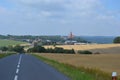
<path id="1" fill-rule="evenodd" d="M 0 59 L 0 80 L 70 80 L 51 66 L 27 54 Z"/>

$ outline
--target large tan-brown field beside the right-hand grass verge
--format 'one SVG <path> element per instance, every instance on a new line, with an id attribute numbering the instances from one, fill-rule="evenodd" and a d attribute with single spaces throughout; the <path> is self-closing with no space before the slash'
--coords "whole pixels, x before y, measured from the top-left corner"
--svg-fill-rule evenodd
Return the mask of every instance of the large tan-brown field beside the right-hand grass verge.
<path id="1" fill-rule="evenodd" d="M 61 63 L 70 64 L 78 68 L 85 67 L 98 69 L 107 73 L 116 71 L 118 72 L 118 75 L 120 75 L 120 54 L 81 55 L 44 53 L 38 55 Z"/>

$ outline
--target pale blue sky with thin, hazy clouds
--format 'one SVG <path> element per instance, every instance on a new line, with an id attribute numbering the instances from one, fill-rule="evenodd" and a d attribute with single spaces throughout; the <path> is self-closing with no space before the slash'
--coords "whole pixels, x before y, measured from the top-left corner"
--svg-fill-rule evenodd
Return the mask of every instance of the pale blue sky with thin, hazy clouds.
<path id="1" fill-rule="evenodd" d="M 1 35 L 120 36 L 120 0 L 0 0 Z"/>

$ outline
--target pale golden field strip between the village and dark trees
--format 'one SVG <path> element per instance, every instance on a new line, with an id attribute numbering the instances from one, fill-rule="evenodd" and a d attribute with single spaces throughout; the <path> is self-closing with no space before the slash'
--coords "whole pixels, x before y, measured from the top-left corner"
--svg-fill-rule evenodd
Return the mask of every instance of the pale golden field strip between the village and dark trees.
<path id="1" fill-rule="evenodd" d="M 45 48 L 54 48 L 54 46 L 44 46 Z M 91 49 L 107 49 L 113 47 L 120 47 L 120 44 L 87 44 L 87 45 L 56 45 L 64 49 L 74 50 L 91 50 Z"/>

